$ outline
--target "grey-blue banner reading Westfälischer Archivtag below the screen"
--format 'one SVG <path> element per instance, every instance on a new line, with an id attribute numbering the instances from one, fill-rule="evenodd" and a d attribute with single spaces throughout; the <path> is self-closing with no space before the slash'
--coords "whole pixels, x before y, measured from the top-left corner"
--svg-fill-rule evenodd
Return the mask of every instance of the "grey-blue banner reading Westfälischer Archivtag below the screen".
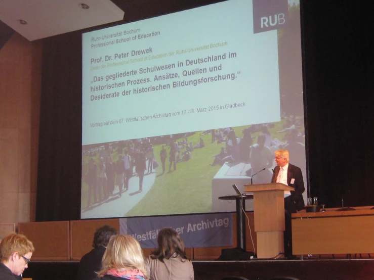
<path id="1" fill-rule="evenodd" d="M 157 234 L 164 227 L 177 230 L 186 248 L 221 247 L 233 245 L 232 222 L 232 213 L 122 218 L 119 230 L 138 240 L 142 248 L 157 248 Z"/>

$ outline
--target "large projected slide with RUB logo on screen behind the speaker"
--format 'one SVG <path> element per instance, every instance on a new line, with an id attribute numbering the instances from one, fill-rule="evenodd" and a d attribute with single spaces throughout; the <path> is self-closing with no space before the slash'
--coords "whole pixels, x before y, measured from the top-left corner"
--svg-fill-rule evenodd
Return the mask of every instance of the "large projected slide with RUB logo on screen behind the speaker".
<path id="1" fill-rule="evenodd" d="M 273 3 L 82 35 L 81 218 L 234 211 L 278 149 L 305 175 L 300 5 Z"/>

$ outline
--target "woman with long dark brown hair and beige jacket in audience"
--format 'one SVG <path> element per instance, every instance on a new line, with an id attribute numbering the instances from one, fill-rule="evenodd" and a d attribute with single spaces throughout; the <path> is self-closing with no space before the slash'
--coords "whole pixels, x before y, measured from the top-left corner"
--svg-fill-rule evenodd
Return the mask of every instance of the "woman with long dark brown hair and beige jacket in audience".
<path id="1" fill-rule="evenodd" d="M 158 248 L 146 259 L 150 280 L 193 280 L 193 266 L 184 243 L 173 228 L 162 228 L 157 236 Z"/>

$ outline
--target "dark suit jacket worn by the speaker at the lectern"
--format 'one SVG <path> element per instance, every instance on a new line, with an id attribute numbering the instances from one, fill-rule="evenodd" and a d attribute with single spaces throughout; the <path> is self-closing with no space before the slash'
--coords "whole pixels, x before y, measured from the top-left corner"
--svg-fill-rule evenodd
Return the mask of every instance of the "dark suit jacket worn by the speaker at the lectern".
<path id="1" fill-rule="evenodd" d="M 279 166 L 276 166 L 274 168 L 273 177 L 271 178 L 272 183 L 275 183 L 277 181 L 279 170 L 280 170 Z M 295 179 L 293 184 L 291 183 L 291 179 Z M 299 167 L 292 165 L 290 163 L 288 163 L 288 169 L 287 169 L 287 184 L 289 186 L 292 186 L 295 189 L 295 191 L 290 191 L 291 193 L 290 199 L 292 200 L 293 203 L 295 203 L 296 209 L 298 211 L 303 210 L 305 206 L 303 195 L 302 195 L 305 191 L 303 173 L 301 172 L 301 169 Z M 289 210 L 289 209 L 286 209 L 286 210 Z"/>

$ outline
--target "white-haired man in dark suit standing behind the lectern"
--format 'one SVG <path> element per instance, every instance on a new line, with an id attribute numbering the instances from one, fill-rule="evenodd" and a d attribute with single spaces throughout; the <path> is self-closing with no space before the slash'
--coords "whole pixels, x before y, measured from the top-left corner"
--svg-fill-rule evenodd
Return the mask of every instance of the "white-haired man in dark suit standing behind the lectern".
<path id="1" fill-rule="evenodd" d="M 274 168 L 271 182 L 283 183 L 295 189 L 295 191 L 284 191 L 284 256 L 294 258 L 292 254 L 291 215 L 303 210 L 305 206 L 303 173 L 299 167 L 289 163 L 287 150 L 275 151 L 275 162 L 277 166 Z"/>

